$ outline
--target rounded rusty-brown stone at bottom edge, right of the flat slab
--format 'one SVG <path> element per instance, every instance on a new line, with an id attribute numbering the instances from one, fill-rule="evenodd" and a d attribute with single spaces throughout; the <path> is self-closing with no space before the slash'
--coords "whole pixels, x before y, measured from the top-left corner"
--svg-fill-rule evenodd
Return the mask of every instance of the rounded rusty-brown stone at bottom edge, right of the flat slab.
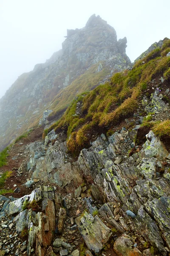
<path id="1" fill-rule="evenodd" d="M 113 250 L 119 256 L 142 256 L 142 253 L 136 247 L 131 248 L 133 244 L 134 241 L 131 237 L 124 234 L 116 239 L 113 245 Z"/>

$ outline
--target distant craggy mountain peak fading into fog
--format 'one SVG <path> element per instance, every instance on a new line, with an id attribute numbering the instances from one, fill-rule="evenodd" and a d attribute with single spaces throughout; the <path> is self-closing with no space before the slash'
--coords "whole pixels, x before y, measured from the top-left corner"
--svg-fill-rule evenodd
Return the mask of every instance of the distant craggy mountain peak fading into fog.
<path id="1" fill-rule="evenodd" d="M 92 15 L 82 29 L 69 29 L 62 49 L 44 64 L 23 73 L 0 99 L 0 149 L 35 127 L 46 110 L 52 123 L 74 97 L 107 81 L 131 63 L 126 38 L 101 17 Z"/>

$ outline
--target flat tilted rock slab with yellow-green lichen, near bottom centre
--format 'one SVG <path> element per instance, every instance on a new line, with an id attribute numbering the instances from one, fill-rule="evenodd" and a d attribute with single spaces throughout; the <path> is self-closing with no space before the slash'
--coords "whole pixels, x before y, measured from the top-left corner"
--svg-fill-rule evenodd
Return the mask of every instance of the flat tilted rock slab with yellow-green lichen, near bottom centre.
<path id="1" fill-rule="evenodd" d="M 88 249 L 95 254 L 99 254 L 105 244 L 112 236 L 111 229 L 108 228 L 96 215 L 85 212 L 79 223 L 79 231 L 85 240 Z"/>

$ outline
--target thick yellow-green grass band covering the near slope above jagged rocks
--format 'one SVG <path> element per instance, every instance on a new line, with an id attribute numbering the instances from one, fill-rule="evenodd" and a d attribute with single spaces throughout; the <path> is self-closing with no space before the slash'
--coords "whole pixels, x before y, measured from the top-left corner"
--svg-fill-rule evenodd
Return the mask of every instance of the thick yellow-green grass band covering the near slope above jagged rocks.
<path id="1" fill-rule="evenodd" d="M 113 125 L 132 115 L 138 108 L 139 99 L 146 94 L 147 84 L 156 76 L 170 77 L 170 57 L 165 55 L 170 48 L 170 40 L 165 39 L 162 48 L 154 49 L 143 60 L 139 60 L 133 69 L 116 73 L 110 82 L 97 86 L 89 93 L 82 93 L 74 100 L 64 115 L 52 125 L 56 132 L 67 134 L 67 145 L 70 152 L 78 152 L 90 145 L 96 131 L 109 130 Z M 75 114 L 77 103 L 82 111 Z M 144 125 L 151 125 L 152 116 L 144 119 Z"/>

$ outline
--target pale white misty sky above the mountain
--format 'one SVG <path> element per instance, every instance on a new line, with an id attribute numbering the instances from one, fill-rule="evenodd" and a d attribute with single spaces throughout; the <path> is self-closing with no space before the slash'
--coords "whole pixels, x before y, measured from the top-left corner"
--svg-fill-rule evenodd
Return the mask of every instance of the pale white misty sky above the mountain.
<path id="1" fill-rule="evenodd" d="M 0 97 L 18 76 L 43 63 L 65 40 L 100 15 L 127 37 L 134 61 L 151 44 L 170 38 L 170 0 L 0 0 Z"/>

